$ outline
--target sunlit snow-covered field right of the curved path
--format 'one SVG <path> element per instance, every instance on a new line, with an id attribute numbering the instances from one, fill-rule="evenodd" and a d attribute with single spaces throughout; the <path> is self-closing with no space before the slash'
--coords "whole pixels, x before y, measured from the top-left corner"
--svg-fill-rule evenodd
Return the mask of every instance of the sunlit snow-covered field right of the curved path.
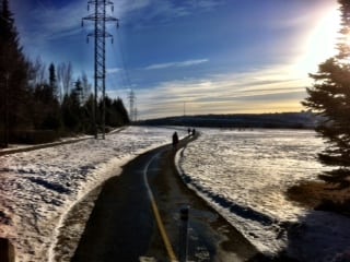
<path id="1" fill-rule="evenodd" d="M 202 129 L 177 154 L 184 180 L 260 251 L 287 248 L 301 261 L 350 261 L 350 219 L 302 209 L 284 196 L 301 179 L 326 167 L 313 131 Z"/>

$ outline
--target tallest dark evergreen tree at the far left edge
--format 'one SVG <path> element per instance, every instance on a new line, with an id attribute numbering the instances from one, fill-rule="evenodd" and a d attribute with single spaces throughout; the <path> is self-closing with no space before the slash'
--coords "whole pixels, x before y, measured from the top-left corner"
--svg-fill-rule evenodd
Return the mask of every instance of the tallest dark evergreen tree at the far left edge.
<path id="1" fill-rule="evenodd" d="M 25 110 L 28 62 L 20 46 L 9 1 L 2 0 L 0 8 L 0 127 L 4 134 L 2 144 L 7 146 L 8 134 L 28 124 Z"/>

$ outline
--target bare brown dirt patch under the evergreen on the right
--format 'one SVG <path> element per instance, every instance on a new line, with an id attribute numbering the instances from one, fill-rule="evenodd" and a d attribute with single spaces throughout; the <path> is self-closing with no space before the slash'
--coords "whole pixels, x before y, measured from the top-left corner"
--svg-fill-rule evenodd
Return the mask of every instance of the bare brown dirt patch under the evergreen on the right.
<path id="1" fill-rule="evenodd" d="M 287 191 L 290 200 L 312 210 L 336 212 L 350 216 L 350 187 L 323 181 L 303 181 Z"/>

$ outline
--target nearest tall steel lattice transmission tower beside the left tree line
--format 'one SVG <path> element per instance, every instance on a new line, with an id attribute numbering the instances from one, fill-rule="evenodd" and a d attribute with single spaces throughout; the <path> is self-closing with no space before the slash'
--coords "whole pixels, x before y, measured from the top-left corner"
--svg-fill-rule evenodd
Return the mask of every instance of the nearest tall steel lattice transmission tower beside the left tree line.
<path id="1" fill-rule="evenodd" d="M 97 139 L 98 129 L 97 129 L 97 98 L 98 93 L 102 92 L 102 112 L 101 112 L 101 122 L 102 122 L 102 139 L 105 139 L 105 94 L 106 94 L 106 38 L 112 38 L 113 35 L 106 31 L 107 22 L 116 22 L 117 27 L 119 27 L 119 20 L 106 14 L 107 7 L 110 7 L 114 11 L 114 3 L 108 0 L 89 0 L 88 1 L 88 11 L 90 11 L 90 5 L 94 7 L 94 12 L 82 19 L 82 26 L 84 21 L 94 22 L 94 32 L 88 34 L 88 41 L 90 37 L 94 37 L 95 48 L 95 74 L 94 74 L 94 109 L 93 109 L 93 122 L 94 122 L 94 133 L 95 139 Z"/>

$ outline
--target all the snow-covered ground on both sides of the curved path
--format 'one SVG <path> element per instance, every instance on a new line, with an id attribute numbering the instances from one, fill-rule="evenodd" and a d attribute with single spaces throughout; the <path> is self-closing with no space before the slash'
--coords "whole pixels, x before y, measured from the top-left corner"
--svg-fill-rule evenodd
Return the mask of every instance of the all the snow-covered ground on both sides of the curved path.
<path id="1" fill-rule="evenodd" d="M 11 239 L 16 262 L 69 261 L 101 184 L 173 132 L 130 127 L 104 141 L 1 156 L 0 237 Z M 350 219 L 301 209 L 283 194 L 325 169 L 315 158 L 323 146 L 312 131 L 202 129 L 177 162 L 189 186 L 262 252 L 288 247 L 302 261 L 332 261 L 350 252 Z"/>

